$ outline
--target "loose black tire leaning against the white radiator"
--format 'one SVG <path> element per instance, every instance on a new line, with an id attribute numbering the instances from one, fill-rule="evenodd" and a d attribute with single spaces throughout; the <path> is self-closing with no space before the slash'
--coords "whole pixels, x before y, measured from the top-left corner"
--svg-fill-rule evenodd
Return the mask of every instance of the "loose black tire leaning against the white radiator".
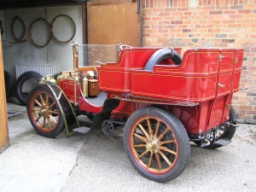
<path id="1" fill-rule="evenodd" d="M 43 78 L 43 76 L 40 73 L 30 71 L 30 72 L 22 73 L 20 75 L 20 77 L 16 80 L 15 95 L 16 95 L 17 100 L 22 105 L 26 105 L 26 100 L 27 100 L 27 96 L 22 93 L 22 86 L 25 83 L 25 81 L 27 79 L 36 79 L 38 81 L 38 84 L 39 84 L 39 81 L 42 78 Z"/>

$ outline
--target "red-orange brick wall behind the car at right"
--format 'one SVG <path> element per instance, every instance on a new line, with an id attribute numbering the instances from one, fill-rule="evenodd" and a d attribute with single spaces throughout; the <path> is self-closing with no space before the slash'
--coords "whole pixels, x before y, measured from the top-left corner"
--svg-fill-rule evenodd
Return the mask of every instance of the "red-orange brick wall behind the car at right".
<path id="1" fill-rule="evenodd" d="M 256 0 L 142 0 L 143 46 L 245 49 L 239 118 L 256 119 Z"/>

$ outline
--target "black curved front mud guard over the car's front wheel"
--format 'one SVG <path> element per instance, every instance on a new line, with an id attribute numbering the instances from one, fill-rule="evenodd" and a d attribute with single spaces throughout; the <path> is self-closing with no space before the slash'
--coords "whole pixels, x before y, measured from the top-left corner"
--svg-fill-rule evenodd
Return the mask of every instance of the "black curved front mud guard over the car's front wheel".
<path id="1" fill-rule="evenodd" d="M 73 125 L 74 121 L 78 126 L 79 120 L 77 119 L 76 113 L 73 109 L 72 104 L 69 102 L 66 94 L 61 90 L 61 88 L 57 84 L 53 84 L 49 81 L 41 80 L 40 84 L 46 84 L 51 90 L 53 96 L 55 96 L 55 100 L 57 102 L 58 107 L 61 109 L 61 114 L 65 124 L 66 136 L 73 136 L 75 131 L 68 128 L 68 125 Z"/>

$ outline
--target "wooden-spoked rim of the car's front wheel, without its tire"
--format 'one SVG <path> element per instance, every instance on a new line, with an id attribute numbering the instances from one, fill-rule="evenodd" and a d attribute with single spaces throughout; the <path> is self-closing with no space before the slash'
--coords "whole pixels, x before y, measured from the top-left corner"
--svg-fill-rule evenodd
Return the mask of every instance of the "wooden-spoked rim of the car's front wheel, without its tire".
<path id="1" fill-rule="evenodd" d="M 46 91 L 38 91 L 30 100 L 30 114 L 34 125 L 38 130 L 51 132 L 57 128 L 60 117 L 60 110 L 55 98 Z"/>

